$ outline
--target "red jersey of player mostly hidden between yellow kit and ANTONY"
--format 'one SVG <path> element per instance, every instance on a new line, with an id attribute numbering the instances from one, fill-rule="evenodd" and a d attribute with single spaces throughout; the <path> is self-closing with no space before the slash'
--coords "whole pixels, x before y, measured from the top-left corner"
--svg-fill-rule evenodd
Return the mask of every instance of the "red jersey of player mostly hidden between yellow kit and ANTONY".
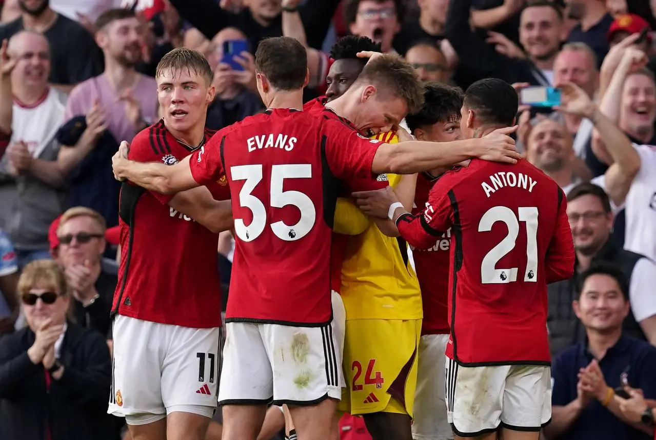
<path id="1" fill-rule="evenodd" d="M 417 176 L 415 207 L 413 214 L 421 214 L 428 203 L 428 192 L 436 179 L 422 172 Z M 410 247 L 415 260 L 415 273 L 421 289 L 421 302 L 424 319 L 421 334 L 449 333 L 449 258 L 451 252 L 451 230 L 441 237 L 434 237 L 434 244 L 428 249 Z"/>

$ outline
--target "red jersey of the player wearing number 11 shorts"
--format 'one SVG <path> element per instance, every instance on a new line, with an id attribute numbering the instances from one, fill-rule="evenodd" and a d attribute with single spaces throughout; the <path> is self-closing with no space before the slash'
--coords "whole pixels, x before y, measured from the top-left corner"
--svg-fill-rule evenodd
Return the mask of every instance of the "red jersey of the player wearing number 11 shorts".
<path id="1" fill-rule="evenodd" d="M 205 139 L 212 134 L 207 130 Z M 178 142 L 161 120 L 134 136 L 128 157 L 173 165 L 195 150 L 199 148 Z M 230 198 L 225 176 L 208 182 L 207 188 L 217 200 Z M 195 329 L 220 327 L 217 235 L 169 207 L 172 198 L 123 184 L 121 265 L 112 311 Z"/>

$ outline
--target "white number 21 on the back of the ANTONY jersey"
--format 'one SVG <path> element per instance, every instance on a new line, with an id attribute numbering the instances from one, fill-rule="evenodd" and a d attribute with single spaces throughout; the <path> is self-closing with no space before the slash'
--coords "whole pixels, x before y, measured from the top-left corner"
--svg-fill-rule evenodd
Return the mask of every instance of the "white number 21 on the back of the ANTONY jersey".
<path id="1" fill-rule="evenodd" d="M 518 213 L 515 215 L 508 207 L 493 207 L 483 214 L 478 223 L 479 232 L 491 231 L 496 222 L 504 222 L 508 228 L 508 235 L 483 257 L 481 263 L 482 284 L 503 284 L 517 281 L 519 268 L 497 269 L 497 262 L 515 249 L 520 233 L 520 222 L 526 224 L 526 269 L 523 280 L 529 283 L 537 282 L 537 207 L 520 207 L 517 211 Z"/>

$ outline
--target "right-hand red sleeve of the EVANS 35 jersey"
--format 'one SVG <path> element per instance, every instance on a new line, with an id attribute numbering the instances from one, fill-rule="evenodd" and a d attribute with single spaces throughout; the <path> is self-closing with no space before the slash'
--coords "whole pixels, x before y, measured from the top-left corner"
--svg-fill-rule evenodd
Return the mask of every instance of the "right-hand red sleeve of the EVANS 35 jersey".
<path id="1" fill-rule="evenodd" d="M 379 140 L 365 138 L 338 119 L 325 119 L 321 127 L 321 142 L 335 177 L 354 191 L 371 189 L 371 182 L 366 185 L 363 182 L 377 178 L 371 172 L 371 165 L 381 145 Z"/>

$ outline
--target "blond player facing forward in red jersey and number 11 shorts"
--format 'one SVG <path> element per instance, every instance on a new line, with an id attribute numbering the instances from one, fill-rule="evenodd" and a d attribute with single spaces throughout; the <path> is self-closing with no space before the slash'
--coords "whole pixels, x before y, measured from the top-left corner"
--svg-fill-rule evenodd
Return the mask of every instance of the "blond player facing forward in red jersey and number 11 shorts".
<path id="1" fill-rule="evenodd" d="M 199 52 L 175 49 L 157 66 L 163 119 L 138 133 L 129 157 L 173 165 L 205 144 L 214 98 Z M 221 299 L 216 232 L 232 226 L 228 182 L 163 195 L 121 188 L 121 266 L 113 300 L 108 412 L 138 439 L 205 439 L 216 408 Z"/>

